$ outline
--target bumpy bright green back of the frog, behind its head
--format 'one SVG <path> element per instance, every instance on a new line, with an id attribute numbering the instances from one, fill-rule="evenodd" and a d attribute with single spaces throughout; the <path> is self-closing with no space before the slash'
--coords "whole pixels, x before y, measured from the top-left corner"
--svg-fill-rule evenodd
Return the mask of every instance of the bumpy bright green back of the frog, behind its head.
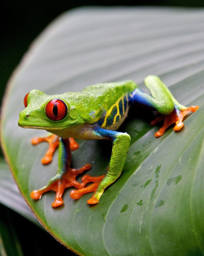
<path id="1" fill-rule="evenodd" d="M 84 122 L 96 122 L 125 94 L 130 94 L 137 87 L 133 81 L 96 84 L 86 87 L 80 93 L 63 94 L 70 105 L 70 117 L 77 111 Z M 75 110 L 75 111 L 74 111 Z M 74 116 L 73 116 L 74 117 Z M 81 120 L 82 121 L 82 120 Z"/>

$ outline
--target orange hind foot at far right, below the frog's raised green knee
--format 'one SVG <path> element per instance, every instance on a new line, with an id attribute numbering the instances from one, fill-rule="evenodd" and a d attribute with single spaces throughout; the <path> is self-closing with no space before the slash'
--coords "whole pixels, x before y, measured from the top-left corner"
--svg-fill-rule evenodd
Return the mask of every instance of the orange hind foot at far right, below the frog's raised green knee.
<path id="1" fill-rule="evenodd" d="M 165 130 L 171 125 L 176 123 L 174 126 L 174 131 L 180 130 L 183 124 L 183 118 L 186 116 L 190 111 L 195 112 L 199 106 L 191 106 L 189 108 L 185 108 L 183 110 L 179 110 L 174 108 L 174 110 L 169 115 L 162 115 L 151 121 L 151 125 L 155 125 L 158 121 L 164 120 L 163 126 L 159 129 L 158 132 L 155 133 L 155 137 L 162 136 Z"/>

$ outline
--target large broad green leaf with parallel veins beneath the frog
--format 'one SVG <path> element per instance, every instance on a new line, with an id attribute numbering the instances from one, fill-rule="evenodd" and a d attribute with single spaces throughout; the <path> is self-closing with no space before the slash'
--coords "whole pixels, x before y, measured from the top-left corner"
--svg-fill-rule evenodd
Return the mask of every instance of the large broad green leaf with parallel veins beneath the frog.
<path id="1" fill-rule="evenodd" d="M 10 80 L 4 99 L 4 153 L 27 203 L 42 225 L 79 255 L 204 255 L 204 11 L 151 8 L 86 8 L 64 13 L 34 42 Z M 152 114 L 133 107 L 121 126 L 131 146 L 120 178 L 99 204 L 90 195 L 53 209 L 55 193 L 34 201 L 30 192 L 57 171 L 40 159 L 46 144 L 32 146 L 43 131 L 17 126 L 23 98 L 32 89 L 47 94 L 155 74 L 184 105 L 200 105 L 185 127 L 160 138 Z M 92 164 L 90 175 L 106 172 L 111 145 L 79 141 L 75 168 Z M 2 186 L 2 185 L 1 185 Z M 5 191 L 6 188 L 4 188 Z M 7 191 L 9 193 L 9 191 Z"/>

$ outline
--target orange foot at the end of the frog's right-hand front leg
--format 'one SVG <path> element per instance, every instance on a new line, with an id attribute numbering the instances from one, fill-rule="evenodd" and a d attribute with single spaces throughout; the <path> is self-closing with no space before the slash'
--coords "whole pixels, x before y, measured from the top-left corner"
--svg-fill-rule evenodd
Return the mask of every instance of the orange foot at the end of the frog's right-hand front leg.
<path id="1" fill-rule="evenodd" d="M 72 199 L 79 199 L 84 194 L 94 192 L 93 196 L 87 201 L 87 203 L 88 204 L 97 204 L 98 199 L 96 197 L 94 197 L 94 194 L 96 193 L 98 185 L 100 184 L 100 182 L 103 180 L 104 177 L 105 177 L 105 175 L 101 175 L 99 177 L 91 177 L 88 174 L 84 175 L 83 178 L 82 178 L 82 183 L 83 183 L 84 187 L 80 188 L 80 189 L 73 189 L 70 192 L 71 198 Z M 90 183 L 90 182 L 93 182 L 93 183 L 91 185 L 88 185 L 87 187 L 85 187 L 85 185 Z"/>

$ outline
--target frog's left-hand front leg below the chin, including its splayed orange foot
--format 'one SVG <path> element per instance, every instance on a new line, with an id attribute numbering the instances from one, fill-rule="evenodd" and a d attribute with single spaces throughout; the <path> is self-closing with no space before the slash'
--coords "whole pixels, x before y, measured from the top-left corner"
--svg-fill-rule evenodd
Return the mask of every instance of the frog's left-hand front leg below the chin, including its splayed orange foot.
<path id="1" fill-rule="evenodd" d="M 58 154 L 58 164 L 59 169 L 55 177 L 53 177 L 48 184 L 39 189 L 31 192 L 31 197 L 33 199 L 40 199 L 42 194 L 47 191 L 53 190 L 56 192 L 55 201 L 52 206 L 57 207 L 63 204 L 62 195 L 65 188 L 75 187 L 77 189 L 83 188 L 87 183 L 86 181 L 80 183 L 76 180 L 77 175 L 83 173 L 86 170 L 91 169 L 90 164 L 84 165 L 80 169 L 70 168 L 71 163 L 71 150 L 69 139 L 59 138 L 59 154 Z"/>

